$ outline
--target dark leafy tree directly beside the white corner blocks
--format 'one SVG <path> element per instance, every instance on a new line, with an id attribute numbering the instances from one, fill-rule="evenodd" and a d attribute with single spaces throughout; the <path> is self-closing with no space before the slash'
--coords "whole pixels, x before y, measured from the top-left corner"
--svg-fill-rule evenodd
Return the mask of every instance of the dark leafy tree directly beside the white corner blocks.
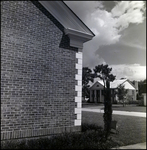
<path id="1" fill-rule="evenodd" d="M 89 92 L 89 81 L 93 82 L 94 76 L 92 73 L 92 70 L 88 67 L 83 67 L 82 69 L 82 97 L 90 98 L 90 92 Z"/>

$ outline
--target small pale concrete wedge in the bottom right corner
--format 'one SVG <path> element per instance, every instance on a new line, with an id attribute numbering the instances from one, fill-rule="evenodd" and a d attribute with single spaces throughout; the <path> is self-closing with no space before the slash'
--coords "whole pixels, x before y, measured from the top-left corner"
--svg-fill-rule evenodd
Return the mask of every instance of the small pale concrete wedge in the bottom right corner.
<path id="1" fill-rule="evenodd" d="M 127 146 L 121 146 L 121 147 L 112 148 L 112 149 L 146 149 L 146 142 L 138 143 L 138 144 L 132 144 L 132 145 L 127 145 Z"/>

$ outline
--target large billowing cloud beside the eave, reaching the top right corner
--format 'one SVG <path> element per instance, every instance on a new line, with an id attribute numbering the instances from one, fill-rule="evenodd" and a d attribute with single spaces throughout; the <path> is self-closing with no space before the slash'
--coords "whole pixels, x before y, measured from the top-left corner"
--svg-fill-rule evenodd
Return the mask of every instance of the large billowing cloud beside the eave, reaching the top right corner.
<path id="1" fill-rule="evenodd" d="M 130 23 L 141 23 L 144 20 L 143 12 L 141 11 L 143 7 L 144 2 L 122 1 L 114 6 L 112 12 L 98 8 L 95 11 L 91 11 L 91 14 L 87 14 L 85 23 L 96 36 L 92 41 L 84 44 L 84 65 L 94 66 L 94 64 L 104 63 L 106 60 L 98 54 L 95 55 L 95 51 L 102 45 L 111 45 L 118 42 L 121 38 L 120 31 L 127 28 Z M 126 44 L 133 46 L 131 43 Z M 140 48 L 137 44 L 134 46 Z"/>

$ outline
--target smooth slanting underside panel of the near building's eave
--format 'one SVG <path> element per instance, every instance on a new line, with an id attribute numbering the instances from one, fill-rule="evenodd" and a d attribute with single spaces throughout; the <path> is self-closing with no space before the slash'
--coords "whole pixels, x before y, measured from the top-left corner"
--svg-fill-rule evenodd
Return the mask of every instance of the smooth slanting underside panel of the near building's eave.
<path id="1" fill-rule="evenodd" d="M 78 31 L 95 34 L 82 22 L 82 20 L 63 2 L 63 1 L 38 1 L 46 8 L 62 25 L 65 29 L 72 28 Z M 63 17 L 64 16 L 64 17 Z"/>

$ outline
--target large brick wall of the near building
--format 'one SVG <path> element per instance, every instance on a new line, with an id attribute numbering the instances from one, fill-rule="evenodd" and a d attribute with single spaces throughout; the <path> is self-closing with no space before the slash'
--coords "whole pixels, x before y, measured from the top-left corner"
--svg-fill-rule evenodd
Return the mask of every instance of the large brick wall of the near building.
<path id="1" fill-rule="evenodd" d="M 78 50 L 34 4 L 1 2 L 2 140 L 80 130 L 74 122 Z"/>

